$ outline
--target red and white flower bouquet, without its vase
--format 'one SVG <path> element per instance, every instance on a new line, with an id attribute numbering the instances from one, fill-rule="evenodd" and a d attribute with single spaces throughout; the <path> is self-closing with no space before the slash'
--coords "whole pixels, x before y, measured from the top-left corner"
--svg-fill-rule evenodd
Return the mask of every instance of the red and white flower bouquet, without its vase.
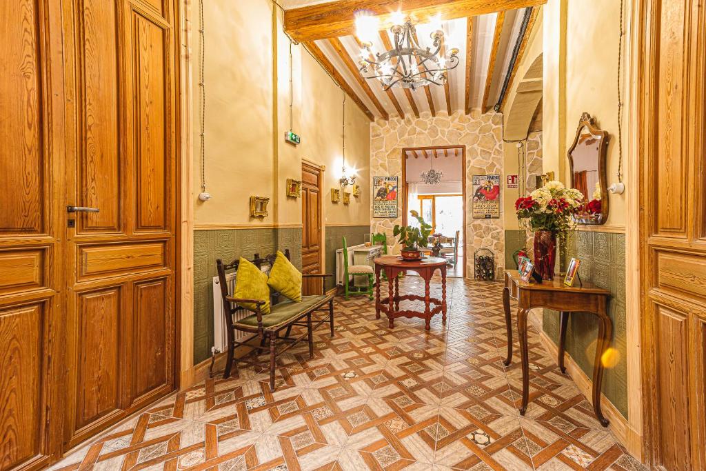
<path id="1" fill-rule="evenodd" d="M 520 223 L 532 232 L 549 231 L 566 239 L 576 229 L 573 217 L 583 205 L 583 195 L 565 188 L 561 181 L 549 181 L 526 198 L 517 198 L 515 211 Z"/>

